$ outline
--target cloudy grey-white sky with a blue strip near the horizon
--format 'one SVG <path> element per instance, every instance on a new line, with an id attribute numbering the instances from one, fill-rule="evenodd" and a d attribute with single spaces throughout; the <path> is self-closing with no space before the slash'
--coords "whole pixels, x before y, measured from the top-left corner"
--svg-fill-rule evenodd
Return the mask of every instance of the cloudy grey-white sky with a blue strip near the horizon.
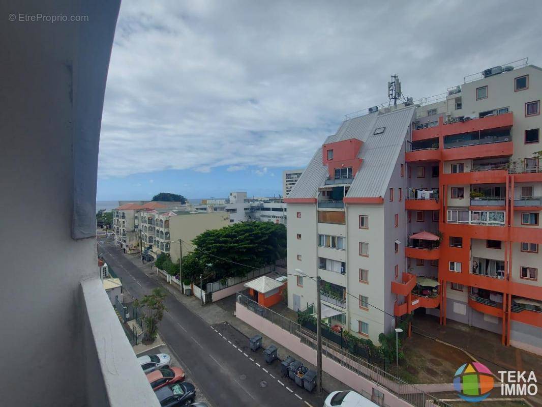
<path id="1" fill-rule="evenodd" d="M 346 113 L 540 57 L 540 1 L 122 2 L 98 200 L 282 191 Z"/>

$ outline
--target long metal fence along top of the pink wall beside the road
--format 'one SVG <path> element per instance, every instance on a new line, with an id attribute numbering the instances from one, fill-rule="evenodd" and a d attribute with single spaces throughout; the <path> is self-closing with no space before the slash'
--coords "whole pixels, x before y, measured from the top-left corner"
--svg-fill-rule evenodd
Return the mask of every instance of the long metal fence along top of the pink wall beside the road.
<path id="1" fill-rule="evenodd" d="M 302 344 L 305 344 L 312 349 L 317 349 L 317 335 L 311 330 L 302 327 L 299 323 L 294 322 L 283 315 L 275 313 L 275 311 L 269 308 L 262 307 L 257 302 L 250 300 L 250 298 L 242 292 L 237 292 L 236 297 L 237 301 L 248 310 L 286 330 L 286 332 L 297 336 Z M 322 355 L 341 366 L 346 367 L 359 376 L 379 384 L 393 393 L 393 395 L 396 395 L 416 407 L 426 407 L 427 402 L 431 402 L 437 406 L 451 407 L 450 404 L 431 396 L 429 393 L 425 393 L 415 385 L 406 383 L 404 380 L 385 372 L 380 367 L 372 365 L 366 360 L 347 352 L 344 348 L 340 348 L 337 344 L 326 338 L 322 338 Z"/>

